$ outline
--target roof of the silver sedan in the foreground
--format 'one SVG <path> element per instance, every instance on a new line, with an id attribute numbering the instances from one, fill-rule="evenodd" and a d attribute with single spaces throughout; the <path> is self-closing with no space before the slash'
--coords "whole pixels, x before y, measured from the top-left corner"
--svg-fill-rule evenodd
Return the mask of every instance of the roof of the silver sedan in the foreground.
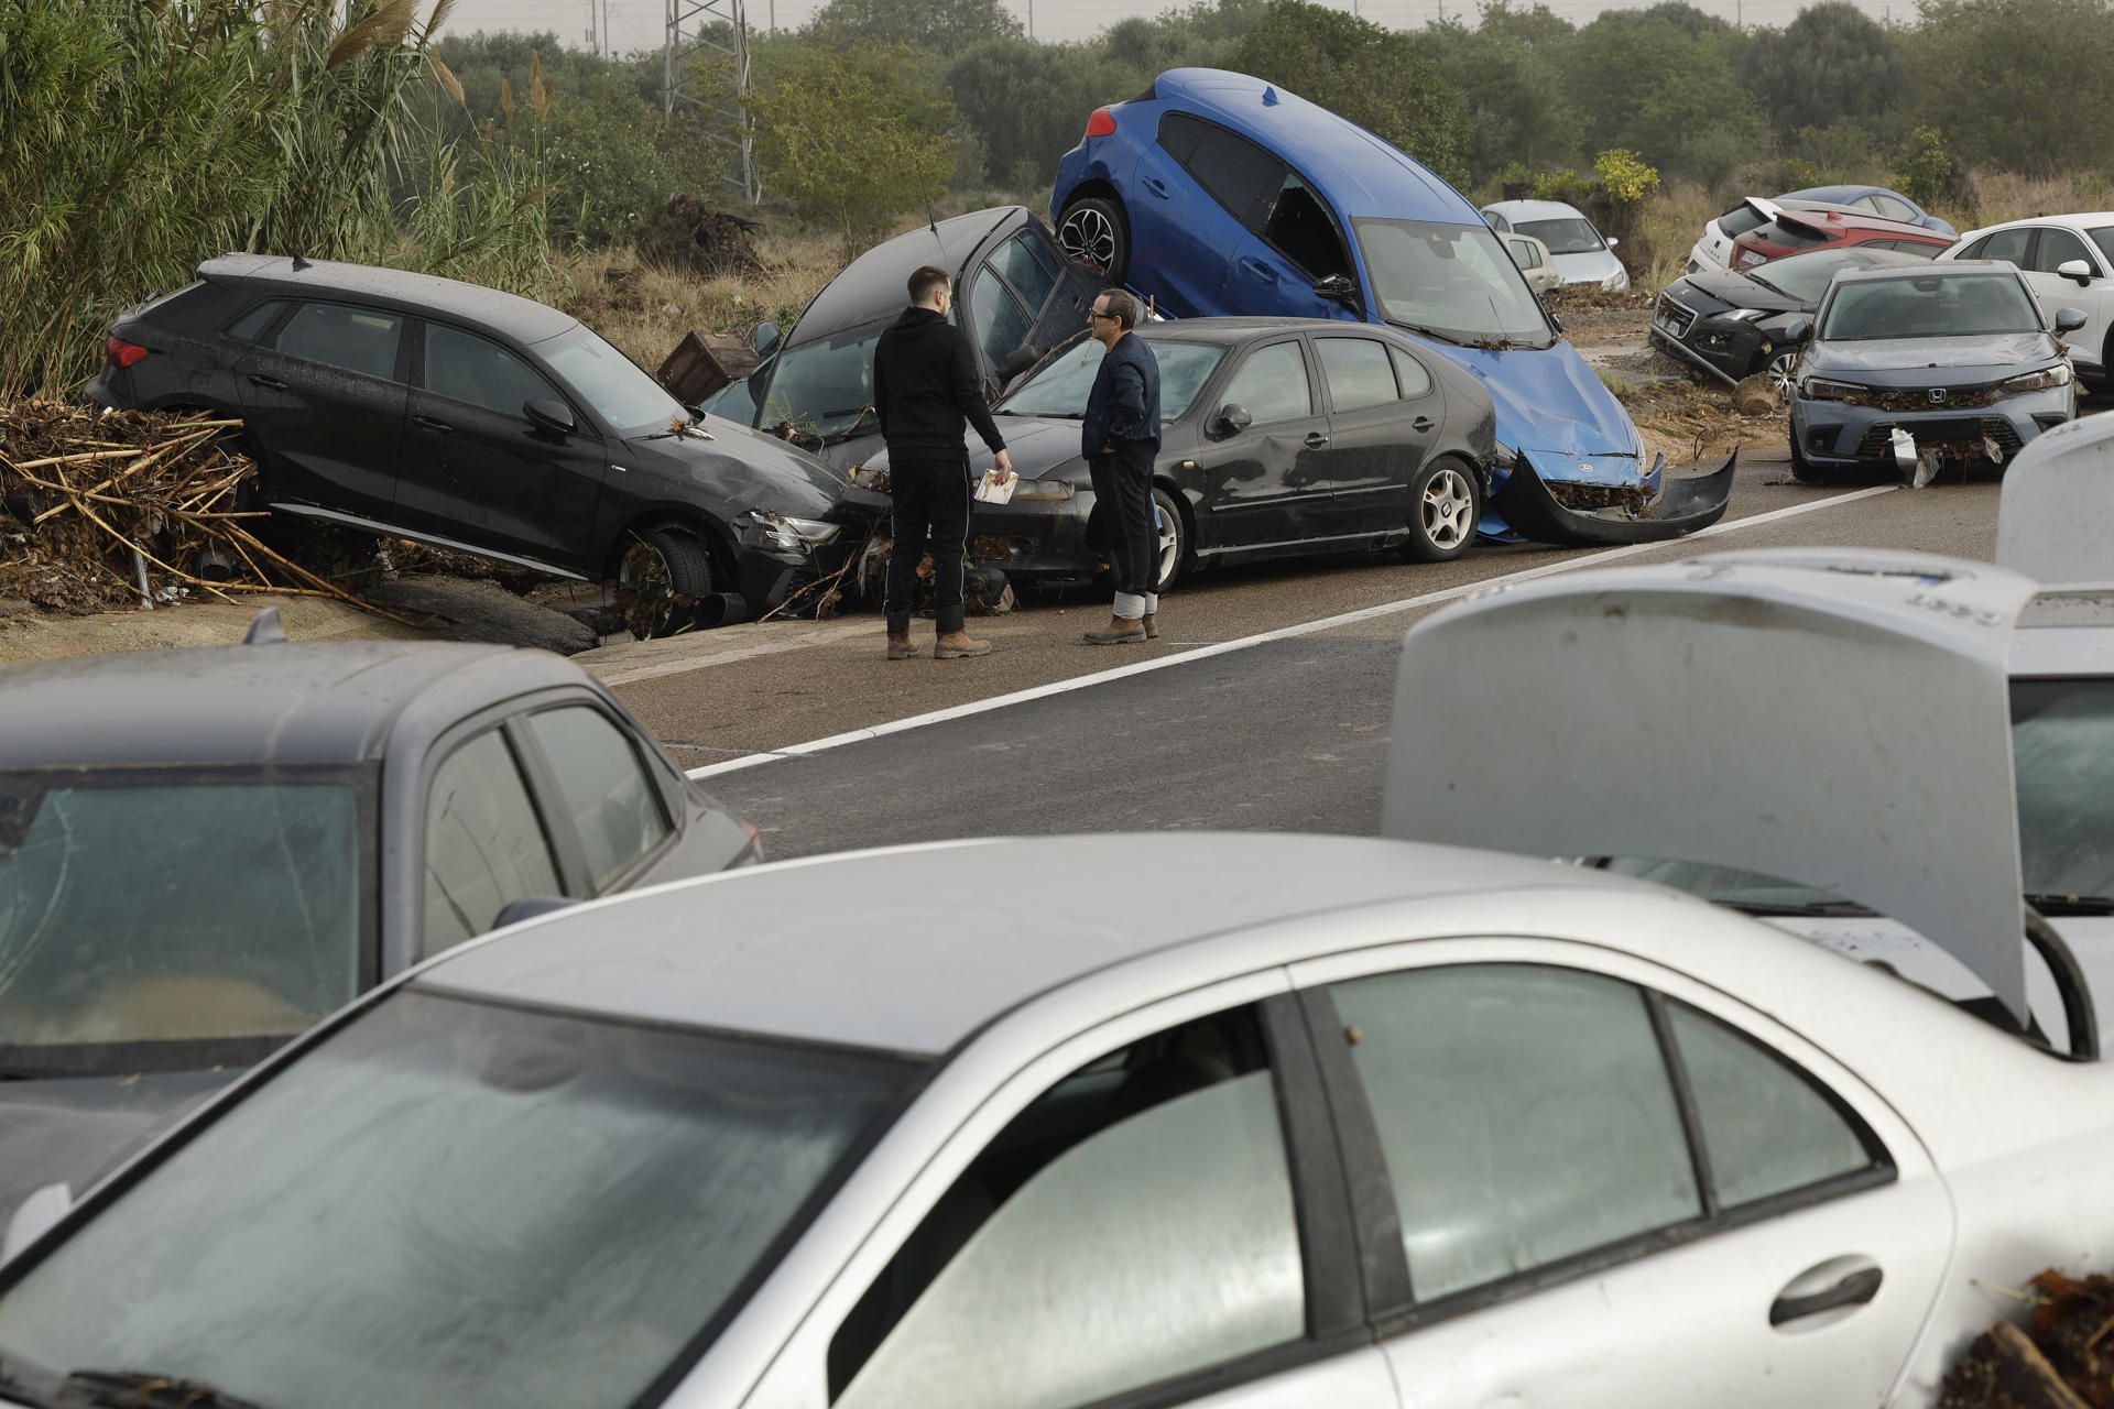
<path id="1" fill-rule="evenodd" d="M 1209 982 L 1243 972 L 1213 972 L 1213 946 L 1279 921 L 1588 881 L 1545 860 L 1347 837 L 939 843 L 727 870 L 575 906 L 450 951 L 414 982 L 941 1054 L 1013 1008 L 1131 959 L 1184 948 L 1197 980 Z"/>

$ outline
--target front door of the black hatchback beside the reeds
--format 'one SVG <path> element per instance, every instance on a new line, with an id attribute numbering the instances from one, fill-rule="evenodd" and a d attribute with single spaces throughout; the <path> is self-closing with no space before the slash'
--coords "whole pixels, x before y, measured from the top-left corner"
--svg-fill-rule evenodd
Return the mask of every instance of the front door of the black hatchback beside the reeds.
<path id="1" fill-rule="evenodd" d="M 590 562 L 609 454 L 600 433 L 522 355 L 482 334 L 423 321 L 393 522 L 577 572 Z M 537 425 L 526 401 L 573 414 Z"/>

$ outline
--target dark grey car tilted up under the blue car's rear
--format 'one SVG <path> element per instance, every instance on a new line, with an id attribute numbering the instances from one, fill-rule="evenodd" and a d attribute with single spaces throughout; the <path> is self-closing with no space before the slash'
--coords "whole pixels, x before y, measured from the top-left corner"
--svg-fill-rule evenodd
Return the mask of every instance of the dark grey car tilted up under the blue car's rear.
<path id="1" fill-rule="evenodd" d="M 852 260 L 801 311 L 784 342 L 763 323 L 765 361 L 706 408 L 786 435 L 831 465 L 858 465 L 882 444 L 873 418 L 873 344 L 909 302 L 911 270 L 953 277 L 953 319 L 970 330 L 985 395 L 1087 327 L 1106 279 L 1065 258 L 1034 211 L 1002 205 L 884 241 Z"/>

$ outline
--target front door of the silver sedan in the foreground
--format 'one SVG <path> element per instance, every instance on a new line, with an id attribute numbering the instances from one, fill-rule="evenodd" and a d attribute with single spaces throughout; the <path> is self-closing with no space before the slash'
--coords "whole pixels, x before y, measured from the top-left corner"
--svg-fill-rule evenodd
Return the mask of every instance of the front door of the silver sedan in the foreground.
<path id="1" fill-rule="evenodd" d="M 1144 1008 L 1004 1079 L 746 1409 L 1395 1409 L 1281 984 Z"/>

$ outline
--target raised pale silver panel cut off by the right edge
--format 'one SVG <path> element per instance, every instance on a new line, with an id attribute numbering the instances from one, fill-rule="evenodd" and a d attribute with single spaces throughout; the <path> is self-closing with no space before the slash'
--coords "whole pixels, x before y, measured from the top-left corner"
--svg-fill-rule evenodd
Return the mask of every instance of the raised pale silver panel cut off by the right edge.
<path id="1" fill-rule="evenodd" d="M 1996 560 L 2048 587 L 2114 587 L 2114 412 L 2042 431 L 2004 469 Z"/>

